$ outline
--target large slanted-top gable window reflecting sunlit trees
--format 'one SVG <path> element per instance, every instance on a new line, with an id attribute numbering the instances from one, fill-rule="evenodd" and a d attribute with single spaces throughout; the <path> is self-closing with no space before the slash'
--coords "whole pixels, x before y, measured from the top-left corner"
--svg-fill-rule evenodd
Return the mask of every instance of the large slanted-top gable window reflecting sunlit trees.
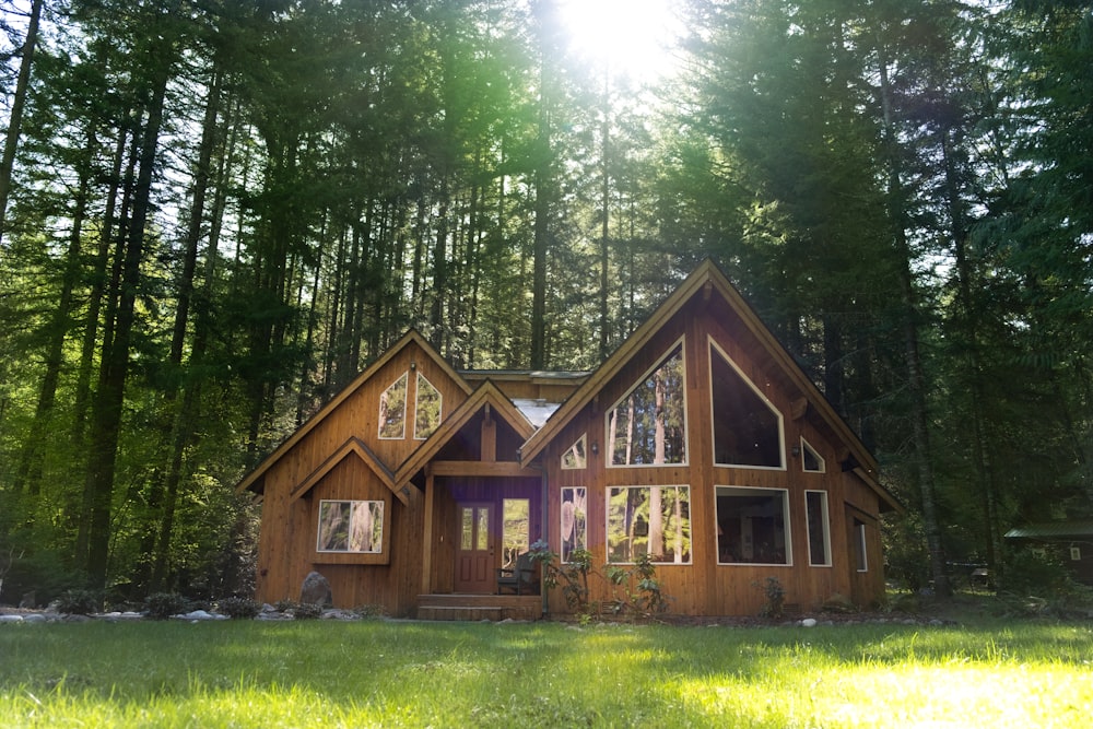
<path id="1" fill-rule="evenodd" d="M 686 462 L 682 340 L 607 413 L 611 466 Z"/>

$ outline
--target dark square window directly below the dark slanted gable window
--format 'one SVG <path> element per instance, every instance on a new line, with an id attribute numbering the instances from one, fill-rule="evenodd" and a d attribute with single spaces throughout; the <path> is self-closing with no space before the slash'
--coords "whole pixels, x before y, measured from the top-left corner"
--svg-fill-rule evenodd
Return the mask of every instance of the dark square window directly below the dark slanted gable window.
<path id="1" fill-rule="evenodd" d="M 788 493 L 718 486 L 717 542 L 722 564 L 792 564 Z"/>

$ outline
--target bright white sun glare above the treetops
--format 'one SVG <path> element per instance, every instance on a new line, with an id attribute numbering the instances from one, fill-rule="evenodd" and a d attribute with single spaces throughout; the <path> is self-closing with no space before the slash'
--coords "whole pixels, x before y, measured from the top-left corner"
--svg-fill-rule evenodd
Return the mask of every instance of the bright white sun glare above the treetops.
<path id="1" fill-rule="evenodd" d="M 571 50 L 612 73 L 656 81 L 674 71 L 678 0 L 560 0 Z"/>

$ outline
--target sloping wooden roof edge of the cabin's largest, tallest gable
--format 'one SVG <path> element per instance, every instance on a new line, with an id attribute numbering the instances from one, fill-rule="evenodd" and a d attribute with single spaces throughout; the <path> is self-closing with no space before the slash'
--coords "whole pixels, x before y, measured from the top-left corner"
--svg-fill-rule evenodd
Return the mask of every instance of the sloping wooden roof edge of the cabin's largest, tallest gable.
<path id="1" fill-rule="evenodd" d="M 762 322 L 751 306 L 744 301 L 728 278 L 710 261 L 705 260 L 683 283 L 661 304 L 656 311 L 626 339 L 613 354 L 591 374 L 550 420 L 524 444 L 520 460 L 528 465 L 534 460 L 562 432 L 573 418 L 596 397 L 596 395 L 639 352 L 660 329 L 695 296 L 708 301 L 720 296 L 740 317 L 743 326 L 762 345 L 771 360 L 807 399 L 808 405 L 826 423 L 834 435 L 847 448 L 849 461 L 855 470 L 891 508 L 902 510 L 895 497 L 877 480 L 877 461 L 858 438 L 857 434 L 835 412 L 824 395 L 800 368 L 789 352 Z"/>

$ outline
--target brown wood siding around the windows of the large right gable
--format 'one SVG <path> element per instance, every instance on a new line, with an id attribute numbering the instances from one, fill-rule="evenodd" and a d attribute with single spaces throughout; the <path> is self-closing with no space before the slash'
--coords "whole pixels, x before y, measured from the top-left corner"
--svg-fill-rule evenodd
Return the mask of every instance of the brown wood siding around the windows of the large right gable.
<path id="1" fill-rule="evenodd" d="M 606 413 L 661 356 L 684 338 L 686 373 L 686 463 L 672 466 L 609 467 L 606 442 Z M 710 424 L 709 342 L 729 355 L 764 397 L 783 414 L 785 469 L 730 468 L 714 463 Z M 587 490 L 587 543 L 592 564 L 602 571 L 607 550 L 607 494 L 611 486 L 689 485 L 691 520 L 691 563 L 658 564 L 657 578 L 670 598 L 670 611 L 680 614 L 742 615 L 757 614 L 766 598 L 763 586 L 775 577 L 786 591 L 786 604 L 813 610 L 833 595 L 844 595 L 866 605 L 883 596 L 880 531 L 875 493 L 853 472 L 844 473 L 841 444 L 831 442 L 831 428 L 818 424 L 799 405 L 800 392 L 789 389 L 789 380 L 772 371 L 759 342 L 740 326 L 730 311 L 704 310 L 701 302 L 682 308 L 654 336 L 648 345 L 606 384 L 599 397 L 573 419 L 544 450 L 542 466 L 549 489 L 548 534 L 551 544 L 561 543 L 559 521 L 561 490 L 584 486 Z M 803 412 L 802 412 L 803 411 Z M 795 419 L 794 414 L 798 413 Z M 587 433 L 587 468 L 562 470 L 561 457 L 581 434 Z M 792 455 L 801 437 L 823 458 L 824 472 L 806 472 L 801 456 Z M 599 451 L 599 452 L 596 452 Z M 716 487 L 749 486 L 786 490 L 789 514 L 787 534 L 791 561 L 787 565 L 718 564 Z M 827 494 L 830 566 L 809 563 L 809 537 L 806 491 Z M 870 517 L 867 528 L 868 550 L 872 557 L 865 573 L 857 571 L 846 505 L 856 514 Z M 601 580 L 592 600 L 611 600 L 610 588 Z M 593 587 L 593 589 L 596 589 Z M 552 595 L 552 612 L 567 610 L 561 595 Z"/>

